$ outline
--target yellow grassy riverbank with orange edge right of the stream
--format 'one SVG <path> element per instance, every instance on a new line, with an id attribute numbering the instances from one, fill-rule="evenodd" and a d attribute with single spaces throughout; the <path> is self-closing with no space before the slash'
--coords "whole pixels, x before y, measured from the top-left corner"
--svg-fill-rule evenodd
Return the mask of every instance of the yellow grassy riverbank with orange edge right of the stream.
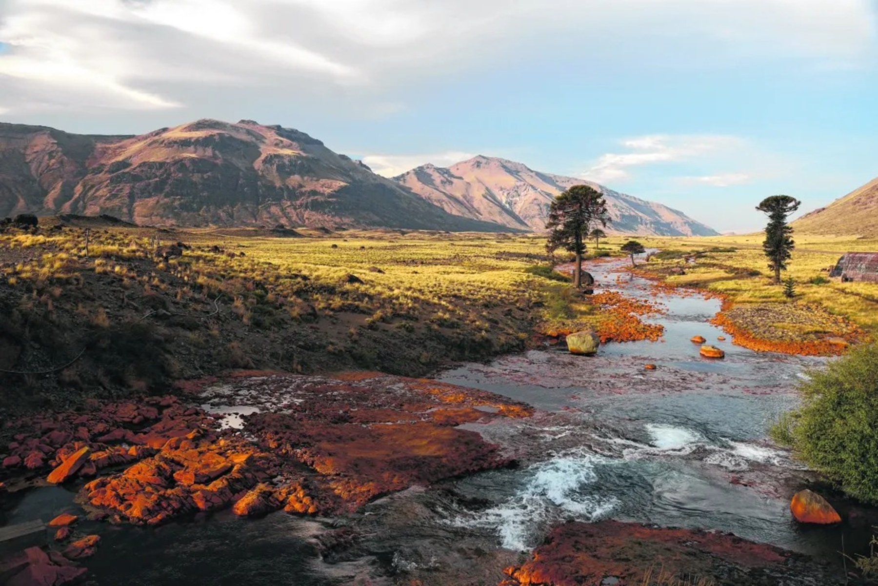
<path id="1" fill-rule="evenodd" d="M 851 250 L 878 250 L 878 241 L 795 235 L 785 271 L 794 296 L 771 283 L 761 235 L 642 239 L 661 249 L 637 271 L 667 286 L 693 287 L 723 299 L 716 317 L 738 343 L 756 351 L 838 355 L 849 344 L 878 334 L 878 284 L 829 279 L 838 257 Z"/>

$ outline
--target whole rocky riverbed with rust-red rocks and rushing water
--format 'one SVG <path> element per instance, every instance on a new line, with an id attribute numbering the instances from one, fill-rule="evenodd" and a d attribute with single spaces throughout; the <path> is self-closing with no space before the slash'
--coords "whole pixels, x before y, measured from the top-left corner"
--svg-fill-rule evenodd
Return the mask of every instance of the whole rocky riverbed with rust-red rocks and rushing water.
<path id="1" fill-rule="evenodd" d="M 718 300 L 593 272 L 662 307 L 661 340 L 436 380 L 240 372 L 5 423 L 0 522 L 77 517 L 11 583 L 847 583 L 838 552 L 865 551 L 874 511 L 824 491 L 843 523 L 797 525 L 816 479 L 766 441 L 822 359 L 740 348 L 708 323 Z"/>

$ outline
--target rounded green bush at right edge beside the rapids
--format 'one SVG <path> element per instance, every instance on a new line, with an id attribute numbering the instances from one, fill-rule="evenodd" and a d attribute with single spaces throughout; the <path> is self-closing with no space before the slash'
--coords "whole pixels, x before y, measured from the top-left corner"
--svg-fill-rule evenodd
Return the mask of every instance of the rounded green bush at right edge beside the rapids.
<path id="1" fill-rule="evenodd" d="M 878 344 L 809 376 L 802 406 L 781 416 L 772 437 L 848 495 L 878 503 Z"/>

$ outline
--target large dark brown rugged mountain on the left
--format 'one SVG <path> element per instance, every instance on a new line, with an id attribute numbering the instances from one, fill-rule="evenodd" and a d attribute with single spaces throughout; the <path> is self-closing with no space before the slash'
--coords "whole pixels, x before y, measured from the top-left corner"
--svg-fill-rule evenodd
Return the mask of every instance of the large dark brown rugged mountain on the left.
<path id="1" fill-rule="evenodd" d="M 447 213 L 303 132 L 252 120 L 138 136 L 0 123 L 0 218 L 17 213 L 156 226 L 508 229 Z"/>

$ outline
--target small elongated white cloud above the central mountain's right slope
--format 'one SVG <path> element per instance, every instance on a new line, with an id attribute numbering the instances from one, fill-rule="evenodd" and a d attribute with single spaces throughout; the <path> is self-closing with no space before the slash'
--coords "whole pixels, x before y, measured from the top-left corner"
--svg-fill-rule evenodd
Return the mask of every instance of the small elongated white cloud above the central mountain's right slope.
<path id="1" fill-rule="evenodd" d="M 622 141 L 625 153 L 607 153 L 581 173 L 597 183 L 631 177 L 631 168 L 651 163 L 676 163 L 740 148 L 744 141 L 728 134 L 649 134 Z"/>

